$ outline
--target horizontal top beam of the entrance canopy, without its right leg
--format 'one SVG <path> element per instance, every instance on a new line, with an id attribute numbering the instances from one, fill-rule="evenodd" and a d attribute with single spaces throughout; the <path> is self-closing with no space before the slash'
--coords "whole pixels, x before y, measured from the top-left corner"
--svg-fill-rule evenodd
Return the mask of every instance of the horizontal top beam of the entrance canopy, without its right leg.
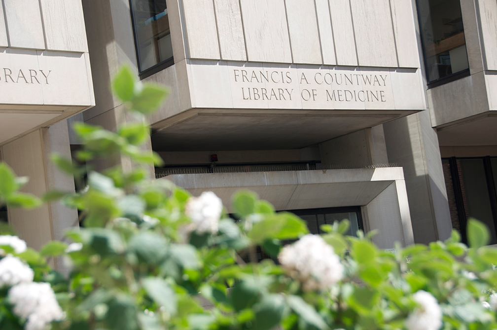
<path id="1" fill-rule="evenodd" d="M 403 181 L 404 172 L 402 167 L 384 167 L 173 174 L 159 180 L 163 179 L 185 188 L 194 196 L 213 191 L 231 212 L 231 198 L 239 189 L 256 192 L 276 210 L 363 206 L 395 181 Z"/>

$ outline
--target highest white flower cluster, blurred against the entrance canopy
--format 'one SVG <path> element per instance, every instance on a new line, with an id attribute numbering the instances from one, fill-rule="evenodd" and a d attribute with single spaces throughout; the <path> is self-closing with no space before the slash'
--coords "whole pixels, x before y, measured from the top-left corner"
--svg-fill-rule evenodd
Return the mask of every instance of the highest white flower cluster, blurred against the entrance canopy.
<path id="1" fill-rule="evenodd" d="M 190 197 L 185 213 L 192 220 L 190 230 L 197 234 L 217 233 L 223 201 L 212 191 L 204 191 L 199 197 Z"/>

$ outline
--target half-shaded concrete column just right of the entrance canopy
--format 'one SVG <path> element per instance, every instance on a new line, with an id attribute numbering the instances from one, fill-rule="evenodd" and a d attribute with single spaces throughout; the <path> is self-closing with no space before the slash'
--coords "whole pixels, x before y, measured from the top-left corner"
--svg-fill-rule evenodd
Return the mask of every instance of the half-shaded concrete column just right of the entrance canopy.
<path id="1" fill-rule="evenodd" d="M 447 192 L 428 111 L 388 122 L 383 128 L 389 162 L 404 168 L 414 241 L 426 244 L 449 238 Z"/>

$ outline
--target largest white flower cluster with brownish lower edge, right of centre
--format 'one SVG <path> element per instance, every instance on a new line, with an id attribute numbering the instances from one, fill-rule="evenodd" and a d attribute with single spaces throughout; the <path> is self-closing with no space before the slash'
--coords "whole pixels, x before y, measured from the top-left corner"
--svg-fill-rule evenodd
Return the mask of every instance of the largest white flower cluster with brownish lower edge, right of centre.
<path id="1" fill-rule="evenodd" d="M 278 259 L 291 276 L 303 283 L 304 290 L 327 290 L 343 276 L 340 258 L 319 235 L 305 235 L 284 247 Z"/>

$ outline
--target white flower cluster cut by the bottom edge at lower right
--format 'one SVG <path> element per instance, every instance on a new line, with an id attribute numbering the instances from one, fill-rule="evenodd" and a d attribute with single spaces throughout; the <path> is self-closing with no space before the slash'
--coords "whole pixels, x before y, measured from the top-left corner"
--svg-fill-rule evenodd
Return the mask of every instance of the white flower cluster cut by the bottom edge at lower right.
<path id="1" fill-rule="evenodd" d="M 418 303 L 418 307 L 409 314 L 406 320 L 408 330 L 438 330 L 442 327 L 442 309 L 438 302 L 431 295 L 423 290 L 419 290 L 413 295 L 413 299 Z"/>

